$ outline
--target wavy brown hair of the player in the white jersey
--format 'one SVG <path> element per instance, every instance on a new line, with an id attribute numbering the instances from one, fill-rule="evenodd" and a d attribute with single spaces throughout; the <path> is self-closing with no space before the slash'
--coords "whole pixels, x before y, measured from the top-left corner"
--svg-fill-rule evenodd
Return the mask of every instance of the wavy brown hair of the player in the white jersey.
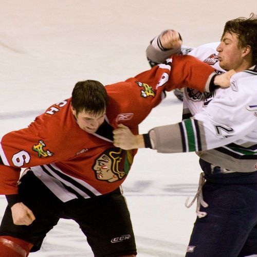
<path id="1" fill-rule="evenodd" d="M 227 21 L 224 27 L 222 38 L 225 33 L 234 33 L 238 36 L 238 47 L 249 45 L 252 50 L 253 64 L 257 64 L 257 16 L 251 13 L 249 18 L 238 17 Z"/>

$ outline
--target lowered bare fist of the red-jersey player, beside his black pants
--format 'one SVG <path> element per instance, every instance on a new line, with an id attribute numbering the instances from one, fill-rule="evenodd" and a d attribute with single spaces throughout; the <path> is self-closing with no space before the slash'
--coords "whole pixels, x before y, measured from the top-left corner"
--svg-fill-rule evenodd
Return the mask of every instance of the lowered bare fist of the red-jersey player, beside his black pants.
<path id="1" fill-rule="evenodd" d="M 17 203 L 11 207 L 12 219 L 15 225 L 30 225 L 35 216 L 33 212 L 23 203 Z"/>

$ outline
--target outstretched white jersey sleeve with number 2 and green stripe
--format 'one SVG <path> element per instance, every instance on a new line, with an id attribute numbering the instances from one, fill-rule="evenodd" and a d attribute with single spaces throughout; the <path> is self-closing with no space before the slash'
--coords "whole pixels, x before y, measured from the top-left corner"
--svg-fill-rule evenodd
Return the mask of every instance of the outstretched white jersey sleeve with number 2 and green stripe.
<path id="1" fill-rule="evenodd" d="M 231 88 L 221 90 L 230 94 L 212 100 L 193 118 L 155 127 L 144 135 L 151 142 L 149 147 L 160 153 L 198 152 L 227 145 L 254 131 L 257 119 L 246 107 L 254 103 L 254 97 Z"/>

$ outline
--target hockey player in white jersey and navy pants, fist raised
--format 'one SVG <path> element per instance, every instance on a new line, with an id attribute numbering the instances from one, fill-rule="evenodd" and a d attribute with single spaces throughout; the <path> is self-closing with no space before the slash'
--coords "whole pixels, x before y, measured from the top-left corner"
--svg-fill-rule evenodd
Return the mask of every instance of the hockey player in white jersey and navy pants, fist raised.
<path id="1" fill-rule="evenodd" d="M 165 34 L 153 40 L 164 49 L 152 43 L 149 59 L 159 62 L 174 53 L 165 49 Z M 182 122 L 145 135 L 121 126 L 114 132 L 115 145 L 160 153 L 195 151 L 204 173 L 186 256 L 257 256 L 257 16 L 228 21 L 216 49 L 204 45 L 189 54 L 217 74 L 234 69 L 230 88 L 210 95 L 186 88 Z"/>

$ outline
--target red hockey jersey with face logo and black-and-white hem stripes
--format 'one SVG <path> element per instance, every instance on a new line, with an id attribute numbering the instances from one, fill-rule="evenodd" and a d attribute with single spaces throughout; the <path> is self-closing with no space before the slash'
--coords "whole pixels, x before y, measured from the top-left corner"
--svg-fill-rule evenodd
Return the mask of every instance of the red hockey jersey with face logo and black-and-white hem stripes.
<path id="1" fill-rule="evenodd" d="M 136 150 L 115 148 L 113 128 L 138 124 L 158 105 L 163 91 L 190 86 L 203 91 L 213 69 L 191 56 L 174 56 L 124 82 L 107 85 L 105 122 L 95 134 L 81 130 L 70 100 L 50 106 L 27 128 L 4 135 L 0 144 L 0 193 L 17 193 L 21 168 L 33 173 L 62 201 L 111 192 L 126 178 Z"/>

